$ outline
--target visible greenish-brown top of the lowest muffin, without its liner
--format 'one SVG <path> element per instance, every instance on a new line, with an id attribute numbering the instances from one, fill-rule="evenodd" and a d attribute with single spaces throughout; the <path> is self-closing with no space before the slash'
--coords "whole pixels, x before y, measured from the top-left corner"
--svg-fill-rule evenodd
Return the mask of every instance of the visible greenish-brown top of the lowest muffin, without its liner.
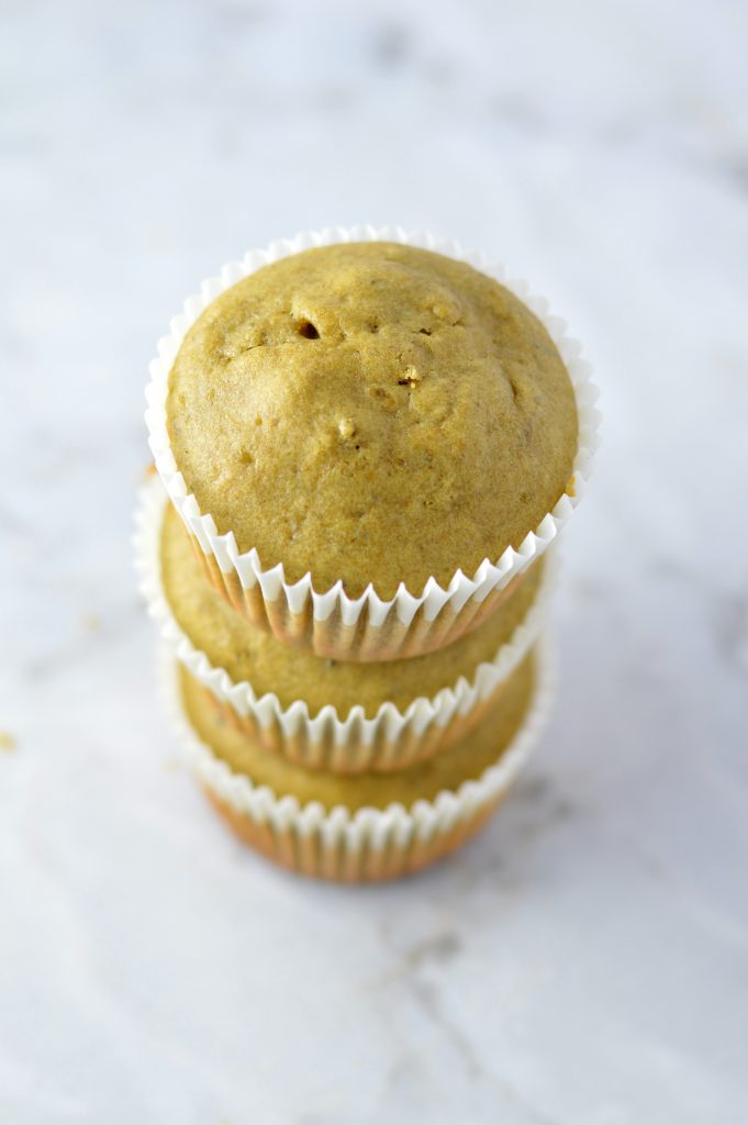
<path id="1" fill-rule="evenodd" d="M 535 657 L 531 652 L 512 673 L 501 703 L 452 746 L 425 762 L 395 773 L 333 774 L 306 770 L 279 754 L 268 754 L 259 742 L 231 726 L 210 702 L 210 695 L 181 668 L 182 702 L 192 727 L 234 773 L 245 774 L 255 785 L 269 785 L 278 796 L 291 794 L 301 804 L 319 801 L 326 809 L 373 806 L 386 809 L 394 801 L 406 808 L 417 800 L 432 800 L 443 789 L 454 790 L 463 781 L 478 778 L 506 750 L 522 726 L 535 684 Z"/>

